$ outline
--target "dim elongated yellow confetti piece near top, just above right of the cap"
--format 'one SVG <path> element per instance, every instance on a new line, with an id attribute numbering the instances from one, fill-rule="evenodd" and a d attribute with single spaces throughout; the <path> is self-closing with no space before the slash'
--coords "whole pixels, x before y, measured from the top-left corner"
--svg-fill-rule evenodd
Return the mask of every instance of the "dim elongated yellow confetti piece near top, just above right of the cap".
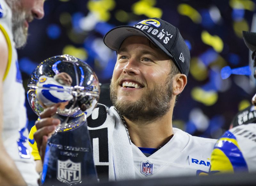
<path id="1" fill-rule="evenodd" d="M 196 11 L 196 9 L 194 9 L 192 6 L 188 4 L 179 4 L 178 12 L 180 13 L 180 15 L 188 16 L 194 23 L 202 22 L 202 17 L 198 13 L 198 11 Z"/>

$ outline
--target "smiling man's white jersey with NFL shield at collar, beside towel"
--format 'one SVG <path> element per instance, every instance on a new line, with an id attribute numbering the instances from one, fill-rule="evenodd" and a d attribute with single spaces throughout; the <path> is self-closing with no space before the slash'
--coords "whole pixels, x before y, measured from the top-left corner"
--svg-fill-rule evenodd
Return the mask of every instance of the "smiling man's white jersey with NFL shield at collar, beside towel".
<path id="1" fill-rule="evenodd" d="M 199 138 L 173 128 L 171 140 L 146 157 L 132 144 L 136 178 L 197 175 L 208 172 L 216 139 Z"/>

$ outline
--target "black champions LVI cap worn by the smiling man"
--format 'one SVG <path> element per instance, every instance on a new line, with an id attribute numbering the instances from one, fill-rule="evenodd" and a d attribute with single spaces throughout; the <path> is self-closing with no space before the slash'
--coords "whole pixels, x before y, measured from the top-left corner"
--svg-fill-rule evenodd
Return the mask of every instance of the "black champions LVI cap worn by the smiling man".
<path id="1" fill-rule="evenodd" d="M 146 36 L 173 59 L 182 74 L 188 76 L 190 53 L 178 28 L 162 19 L 150 18 L 134 26 L 117 26 L 106 33 L 103 41 L 109 48 L 117 51 L 123 41 L 133 35 Z"/>

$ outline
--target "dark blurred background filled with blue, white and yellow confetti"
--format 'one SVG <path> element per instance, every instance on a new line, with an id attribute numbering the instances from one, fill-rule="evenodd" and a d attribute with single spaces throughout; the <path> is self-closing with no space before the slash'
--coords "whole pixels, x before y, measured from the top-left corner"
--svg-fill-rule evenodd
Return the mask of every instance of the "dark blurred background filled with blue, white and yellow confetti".
<path id="1" fill-rule="evenodd" d="M 255 82 L 250 76 L 220 71 L 249 65 L 242 30 L 252 26 L 255 1 L 250 0 L 48 0 L 45 16 L 29 25 L 28 44 L 18 50 L 24 86 L 44 59 L 70 54 L 87 62 L 100 83 L 109 83 L 116 53 L 102 38 L 112 27 L 159 17 L 179 28 L 190 53 L 188 84 L 173 114 L 173 125 L 193 135 L 218 138 L 233 116 L 250 105 Z M 256 22 L 256 20 L 254 21 Z M 254 71 L 252 69 L 252 71 Z M 30 129 L 37 116 L 26 103 Z"/>

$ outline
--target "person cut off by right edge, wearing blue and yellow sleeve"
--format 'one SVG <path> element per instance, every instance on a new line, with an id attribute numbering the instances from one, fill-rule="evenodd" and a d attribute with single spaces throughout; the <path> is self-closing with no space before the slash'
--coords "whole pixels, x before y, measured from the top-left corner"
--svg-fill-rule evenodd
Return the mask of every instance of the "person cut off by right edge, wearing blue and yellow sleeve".
<path id="1" fill-rule="evenodd" d="M 245 45 L 252 51 L 256 67 L 256 33 L 243 31 Z M 254 78 L 256 70 L 254 69 Z M 256 94 L 252 105 L 240 111 L 233 119 L 230 130 L 214 146 L 210 174 L 256 171 Z"/>

